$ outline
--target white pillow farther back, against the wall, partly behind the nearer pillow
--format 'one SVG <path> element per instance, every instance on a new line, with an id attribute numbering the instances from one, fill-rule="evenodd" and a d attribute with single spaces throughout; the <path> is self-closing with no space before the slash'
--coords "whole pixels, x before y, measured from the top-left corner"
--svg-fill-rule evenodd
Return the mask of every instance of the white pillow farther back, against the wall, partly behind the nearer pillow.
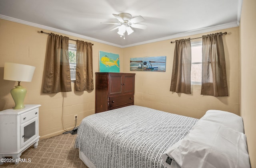
<path id="1" fill-rule="evenodd" d="M 228 111 L 208 110 L 200 120 L 213 121 L 232 128 L 235 131 L 244 133 L 244 123 L 242 117 Z"/>

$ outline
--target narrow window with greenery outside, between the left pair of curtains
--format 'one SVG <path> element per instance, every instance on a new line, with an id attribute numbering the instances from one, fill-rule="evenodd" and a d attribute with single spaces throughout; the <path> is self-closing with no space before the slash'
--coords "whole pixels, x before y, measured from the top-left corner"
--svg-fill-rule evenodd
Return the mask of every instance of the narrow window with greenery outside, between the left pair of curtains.
<path id="1" fill-rule="evenodd" d="M 68 44 L 68 59 L 71 80 L 76 80 L 76 45 Z"/>

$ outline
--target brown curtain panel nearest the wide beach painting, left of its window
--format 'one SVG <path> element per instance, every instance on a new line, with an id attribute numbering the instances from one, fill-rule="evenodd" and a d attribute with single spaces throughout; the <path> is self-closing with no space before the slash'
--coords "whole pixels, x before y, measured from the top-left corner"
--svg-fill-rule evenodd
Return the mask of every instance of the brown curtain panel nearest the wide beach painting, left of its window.
<path id="1" fill-rule="evenodd" d="M 191 43 L 189 39 L 175 41 L 170 91 L 191 94 Z"/>

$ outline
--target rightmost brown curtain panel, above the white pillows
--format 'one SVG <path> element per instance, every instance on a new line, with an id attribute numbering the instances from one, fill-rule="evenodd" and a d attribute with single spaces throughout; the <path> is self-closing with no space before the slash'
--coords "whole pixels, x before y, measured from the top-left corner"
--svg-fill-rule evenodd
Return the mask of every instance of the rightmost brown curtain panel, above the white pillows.
<path id="1" fill-rule="evenodd" d="M 202 95 L 228 96 L 222 33 L 202 36 Z"/>

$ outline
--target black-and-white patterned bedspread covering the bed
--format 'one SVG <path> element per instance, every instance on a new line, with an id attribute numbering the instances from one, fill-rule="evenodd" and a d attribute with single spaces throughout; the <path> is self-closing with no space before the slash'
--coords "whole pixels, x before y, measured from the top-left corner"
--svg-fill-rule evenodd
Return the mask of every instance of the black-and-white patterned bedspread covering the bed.
<path id="1" fill-rule="evenodd" d="M 130 105 L 85 117 L 75 147 L 96 168 L 165 168 L 161 155 L 197 121 Z"/>

